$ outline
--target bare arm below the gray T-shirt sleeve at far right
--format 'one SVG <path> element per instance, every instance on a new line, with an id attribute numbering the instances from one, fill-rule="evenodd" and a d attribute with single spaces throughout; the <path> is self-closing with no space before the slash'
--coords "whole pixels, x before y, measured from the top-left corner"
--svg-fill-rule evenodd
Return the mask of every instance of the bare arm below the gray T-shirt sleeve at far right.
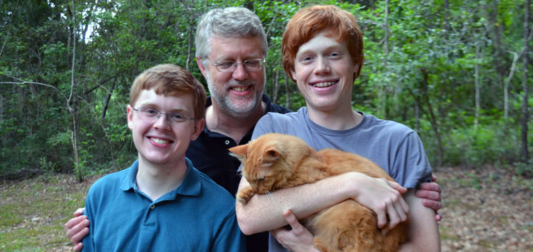
<path id="1" fill-rule="evenodd" d="M 440 251 L 439 228 L 433 209 L 422 205 L 414 189 L 404 197 L 409 204 L 409 226 L 407 242 L 401 244 L 399 251 Z"/>

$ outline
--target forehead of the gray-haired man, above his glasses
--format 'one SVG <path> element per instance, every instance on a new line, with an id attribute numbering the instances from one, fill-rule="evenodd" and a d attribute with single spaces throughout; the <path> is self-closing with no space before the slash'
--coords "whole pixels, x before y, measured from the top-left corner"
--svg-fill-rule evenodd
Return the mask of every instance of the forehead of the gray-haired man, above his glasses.
<path id="1" fill-rule="evenodd" d="M 262 58 L 262 46 L 258 37 L 213 37 L 209 57 L 214 60 Z"/>

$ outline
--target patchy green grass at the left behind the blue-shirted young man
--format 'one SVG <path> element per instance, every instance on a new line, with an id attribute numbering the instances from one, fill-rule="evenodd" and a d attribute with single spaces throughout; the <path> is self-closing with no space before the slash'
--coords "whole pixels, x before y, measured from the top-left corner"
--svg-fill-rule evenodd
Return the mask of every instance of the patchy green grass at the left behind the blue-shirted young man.
<path id="1" fill-rule="evenodd" d="M 92 182 L 41 175 L 0 184 L 0 251 L 71 251 L 63 225 Z"/>

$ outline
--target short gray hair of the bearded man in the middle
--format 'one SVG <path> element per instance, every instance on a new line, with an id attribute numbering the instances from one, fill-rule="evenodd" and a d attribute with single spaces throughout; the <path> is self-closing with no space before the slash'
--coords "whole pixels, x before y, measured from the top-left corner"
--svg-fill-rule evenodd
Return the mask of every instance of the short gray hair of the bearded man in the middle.
<path id="1" fill-rule="evenodd" d="M 262 42 L 262 52 L 266 57 L 268 43 L 261 20 L 246 8 L 218 8 L 202 15 L 196 28 L 196 57 L 206 57 L 211 53 L 213 37 L 257 37 Z"/>

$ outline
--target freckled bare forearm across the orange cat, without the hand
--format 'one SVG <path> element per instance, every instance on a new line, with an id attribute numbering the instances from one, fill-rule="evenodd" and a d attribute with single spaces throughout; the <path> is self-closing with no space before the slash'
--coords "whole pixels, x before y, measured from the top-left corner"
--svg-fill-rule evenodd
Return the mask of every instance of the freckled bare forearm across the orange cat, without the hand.
<path id="1" fill-rule="evenodd" d="M 246 204 L 236 204 L 237 221 L 246 235 L 277 229 L 287 225 L 283 213 L 293 211 L 298 218 L 316 213 L 350 198 L 349 180 L 359 173 L 328 177 L 312 184 L 284 188 L 270 195 L 255 195 Z M 248 186 L 243 177 L 239 189 Z"/>

